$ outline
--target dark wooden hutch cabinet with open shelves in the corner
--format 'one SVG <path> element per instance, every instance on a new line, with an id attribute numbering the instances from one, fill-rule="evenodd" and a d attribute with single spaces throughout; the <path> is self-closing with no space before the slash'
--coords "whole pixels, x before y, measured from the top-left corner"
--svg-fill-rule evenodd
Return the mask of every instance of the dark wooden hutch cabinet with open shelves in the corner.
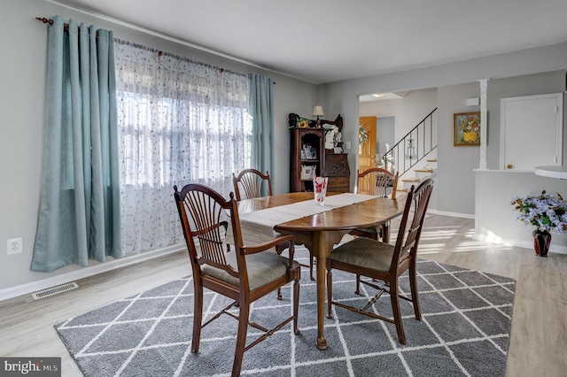
<path id="1" fill-rule="evenodd" d="M 310 127 L 297 127 L 296 114 L 290 114 L 291 160 L 290 191 L 313 191 L 315 176 L 329 177 L 328 191 L 350 191 L 350 168 L 346 153 L 333 153 L 325 150 L 325 132 L 323 127 L 315 127 L 315 122 L 308 122 Z M 340 115 L 335 121 L 321 120 L 319 126 L 329 123 L 340 130 L 343 119 Z M 295 127 L 294 127 L 295 126 Z"/>

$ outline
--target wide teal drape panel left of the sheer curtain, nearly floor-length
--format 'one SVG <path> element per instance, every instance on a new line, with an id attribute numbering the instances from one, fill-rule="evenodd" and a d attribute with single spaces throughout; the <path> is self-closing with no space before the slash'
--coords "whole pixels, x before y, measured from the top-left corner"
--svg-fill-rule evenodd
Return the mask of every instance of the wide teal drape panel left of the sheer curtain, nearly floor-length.
<path id="1" fill-rule="evenodd" d="M 122 255 L 113 32 L 68 25 L 49 27 L 38 272 Z"/>

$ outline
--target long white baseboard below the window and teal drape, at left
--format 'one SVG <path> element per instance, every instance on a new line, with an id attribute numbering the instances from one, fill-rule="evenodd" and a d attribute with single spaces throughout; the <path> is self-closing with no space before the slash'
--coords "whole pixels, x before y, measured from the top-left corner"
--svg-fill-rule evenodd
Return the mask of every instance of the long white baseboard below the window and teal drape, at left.
<path id="1" fill-rule="evenodd" d="M 66 284 L 71 281 L 77 281 L 89 276 L 96 275 L 98 273 L 106 273 L 108 271 L 115 270 L 120 267 L 125 267 L 127 265 L 135 265 L 136 263 L 142 263 L 146 260 L 153 258 L 163 257 L 167 254 L 173 254 L 185 249 L 184 244 L 177 244 L 172 246 L 167 246 L 158 250 L 146 251 L 142 254 L 133 255 L 120 259 L 109 260 L 105 263 L 100 263 L 97 265 L 92 265 L 89 267 L 81 268 L 79 270 L 72 271 L 70 273 L 63 273 L 50 278 L 42 279 L 41 281 L 32 281 L 26 284 L 21 284 L 19 286 L 0 289 L 0 301 L 7 300 L 9 298 L 32 294 L 38 290 L 48 289 L 61 284 Z"/>

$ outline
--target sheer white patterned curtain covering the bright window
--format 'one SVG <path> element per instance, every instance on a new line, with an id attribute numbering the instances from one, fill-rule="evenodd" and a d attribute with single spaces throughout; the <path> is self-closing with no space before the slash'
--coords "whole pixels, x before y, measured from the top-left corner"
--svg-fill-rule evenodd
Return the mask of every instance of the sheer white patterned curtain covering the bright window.
<path id="1" fill-rule="evenodd" d="M 228 197 L 252 163 L 250 78 L 115 40 L 122 248 L 183 242 L 174 185 Z"/>

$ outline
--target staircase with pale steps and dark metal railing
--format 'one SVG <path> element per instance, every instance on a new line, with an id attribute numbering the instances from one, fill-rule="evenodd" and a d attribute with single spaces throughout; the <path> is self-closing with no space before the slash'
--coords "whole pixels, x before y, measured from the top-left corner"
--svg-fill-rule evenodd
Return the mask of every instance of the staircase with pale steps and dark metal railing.
<path id="1" fill-rule="evenodd" d="M 437 122 L 433 121 L 436 111 L 437 108 L 384 153 L 382 167 L 400 176 L 398 191 L 407 191 L 437 173 Z"/>

